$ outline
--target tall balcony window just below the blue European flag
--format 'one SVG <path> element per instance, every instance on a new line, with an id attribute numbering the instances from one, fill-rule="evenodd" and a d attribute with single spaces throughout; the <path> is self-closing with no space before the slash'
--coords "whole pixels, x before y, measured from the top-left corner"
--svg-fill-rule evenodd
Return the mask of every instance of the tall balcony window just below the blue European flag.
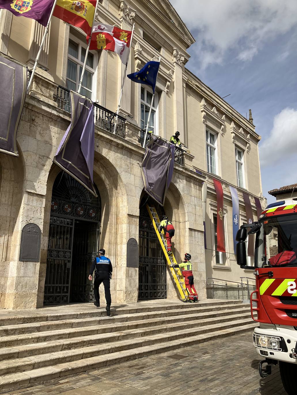
<path id="1" fill-rule="evenodd" d="M 150 103 L 152 102 L 152 93 L 145 87 L 141 87 L 141 129 L 147 127 L 148 113 L 150 112 Z M 150 122 L 148 123 L 148 130 L 152 130 L 153 134 L 158 135 L 158 94 L 155 92 L 154 102 L 152 103 L 152 112 L 150 113 Z"/>

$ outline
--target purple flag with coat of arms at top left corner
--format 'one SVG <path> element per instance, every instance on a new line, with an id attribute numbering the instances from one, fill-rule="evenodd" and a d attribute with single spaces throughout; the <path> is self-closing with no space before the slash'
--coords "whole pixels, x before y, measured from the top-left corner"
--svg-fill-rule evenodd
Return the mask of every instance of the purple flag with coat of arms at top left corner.
<path id="1" fill-rule="evenodd" d="M 0 8 L 8 9 L 16 17 L 32 18 L 46 26 L 53 3 L 54 0 L 0 0 Z"/>

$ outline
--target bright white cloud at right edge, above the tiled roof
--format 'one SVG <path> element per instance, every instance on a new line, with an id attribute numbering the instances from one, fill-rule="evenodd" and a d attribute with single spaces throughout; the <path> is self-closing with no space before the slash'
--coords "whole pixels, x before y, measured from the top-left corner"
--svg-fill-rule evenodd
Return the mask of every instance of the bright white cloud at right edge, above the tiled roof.
<path id="1" fill-rule="evenodd" d="M 261 142 L 259 154 L 261 166 L 273 167 L 282 160 L 289 166 L 292 155 L 297 151 L 297 110 L 283 109 L 274 117 L 273 127 L 268 137 Z"/>

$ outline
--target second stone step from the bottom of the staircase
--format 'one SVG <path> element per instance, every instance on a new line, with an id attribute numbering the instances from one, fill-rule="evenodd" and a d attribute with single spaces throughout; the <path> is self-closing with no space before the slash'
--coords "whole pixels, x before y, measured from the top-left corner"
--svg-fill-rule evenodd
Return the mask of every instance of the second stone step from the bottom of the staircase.
<path id="1" fill-rule="evenodd" d="M 224 323 L 217 322 L 213 325 L 209 325 L 209 320 L 203 320 L 203 322 L 191 322 L 191 327 L 185 325 L 184 327 L 175 327 L 173 331 L 169 334 L 166 331 L 158 331 L 156 334 L 155 329 L 150 331 L 127 331 L 126 335 L 129 334 L 131 338 L 128 340 L 127 337 L 121 336 L 120 332 L 116 332 L 116 342 L 109 342 L 110 339 L 105 338 L 105 342 L 100 344 L 100 346 L 89 346 L 86 348 L 78 348 L 74 350 L 63 350 L 60 352 L 54 353 L 44 353 L 41 355 L 33 355 L 32 357 L 27 356 L 25 358 L 15 358 L 6 361 L 0 362 L 0 376 L 5 374 L 10 374 L 13 372 L 23 372 L 30 371 L 32 369 L 39 369 L 42 367 L 52 366 L 59 364 L 60 361 L 63 363 L 71 362 L 78 359 L 84 359 L 89 357 L 95 357 L 97 355 L 104 355 L 106 353 L 118 352 L 127 349 L 134 349 L 139 346 L 160 343 L 160 342 L 168 342 L 171 340 L 179 339 L 179 338 L 191 338 L 192 336 L 201 335 L 203 333 L 211 333 L 217 330 L 229 329 L 231 327 L 238 327 L 241 325 L 246 325 L 251 321 L 250 316 L 248 318 L 242 320 L 234 320 L 230 321 L 232 318 L 226 317 Z M 227 322 L 227 323 L 225 323 Z M 198 327 L 198 325 L 201 325 Z M 164 328 L 166 329 L 166 328 Z M 129 332 L 129 333 L 128 333 Z M 165 332 L 165 333 L 164 333 Z M 122 338 L 126 338 L 123 340 Z M 152 342 L 154 340 L 154 342 Z M 148 341 L 148 343 L 147 343 Z M 142 344 L 144 343 L 144 344 Z M 109 347 L 107 347 L 109 344 Z M 124 347 L 124 348 L 123 348 Z M 128 347 L 128 348 L 127 348 Z"/>

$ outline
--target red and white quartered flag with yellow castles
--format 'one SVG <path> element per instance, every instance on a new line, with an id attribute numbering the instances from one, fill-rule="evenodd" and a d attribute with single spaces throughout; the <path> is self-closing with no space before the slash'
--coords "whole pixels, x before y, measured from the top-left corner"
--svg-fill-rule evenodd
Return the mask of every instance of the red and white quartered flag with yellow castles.
<path id="1" fill-rule="evenodd" d="M 99 23 L 93 27 L 90 49 L 105 49 L 106 51 L 115 52 L 120 56 L 122 63 L 126 64 L 131 34 L 132 32 L 129 30 Z M 87 41 L 88 39 L 89 37 L 87 37 Z"/>

